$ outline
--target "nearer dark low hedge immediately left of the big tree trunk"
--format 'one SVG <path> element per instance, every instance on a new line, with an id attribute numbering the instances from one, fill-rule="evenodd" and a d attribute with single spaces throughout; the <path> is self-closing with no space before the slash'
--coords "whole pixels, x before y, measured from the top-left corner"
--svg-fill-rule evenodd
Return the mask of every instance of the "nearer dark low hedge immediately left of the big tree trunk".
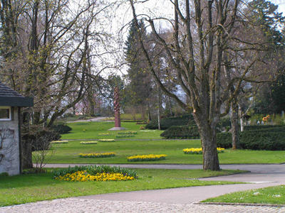
<path id="1" fill-rule="evenodd" d="M 197 126 L 171 126 L 160 134 L 167 139 L 196 139 L 199 138 Z"/>

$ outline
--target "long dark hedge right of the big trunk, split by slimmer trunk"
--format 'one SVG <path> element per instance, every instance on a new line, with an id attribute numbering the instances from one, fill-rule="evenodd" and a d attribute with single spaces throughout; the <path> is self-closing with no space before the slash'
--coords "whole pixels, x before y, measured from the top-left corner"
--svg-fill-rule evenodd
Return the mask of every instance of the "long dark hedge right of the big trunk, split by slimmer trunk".
<path id="1" fill-rule="evenodd" d="M 232 147 L 232 133 L 217 133 L 217 146 Z M 252 150 L 285 150 L 285 132 L 243 131 L 240 133 L 239 146 Z"/>

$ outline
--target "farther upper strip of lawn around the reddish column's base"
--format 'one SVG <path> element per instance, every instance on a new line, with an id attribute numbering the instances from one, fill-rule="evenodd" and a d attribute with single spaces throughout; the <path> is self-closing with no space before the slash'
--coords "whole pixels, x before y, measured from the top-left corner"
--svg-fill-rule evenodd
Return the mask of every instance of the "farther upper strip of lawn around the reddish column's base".
<path id="1" fill-rule="evenodd" d="M 68 124 L 72 128 L 71 133 L 63 134 L 61 139 L 99 139 L 116 138 L 118 131 L 108 131 L 114 127 L 114 122 L 77 122 Z M 122 127 L 127 131 L 138 131 L 132 139 L 159 139 L 163 131 L 159 130 L 140 130 L 140 126 L 135 122 L 122 122 Z M 108 136 L 99 135 L 100 133 L 109 133 Z"/>

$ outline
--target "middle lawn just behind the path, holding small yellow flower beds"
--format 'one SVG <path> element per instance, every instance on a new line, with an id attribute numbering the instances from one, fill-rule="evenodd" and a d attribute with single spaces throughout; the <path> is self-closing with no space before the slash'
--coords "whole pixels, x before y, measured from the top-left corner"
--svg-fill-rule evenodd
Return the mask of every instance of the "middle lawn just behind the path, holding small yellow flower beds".
<path id="1" fill-rule="evenodd" d="M 202 164 L 202 155 L 183 153 L 183 148 L 198 148 L 199 140 L 177 141 L 115 141 L 98 142 L 84 146 L 80 141 L 53 144 L 53 155 L 48 163 L 142 163 L 128 162 L 130 155 L 166 154 L 166 160 L 144 161 L 155 164 Z M 113 158 L 79 158 L 78 153 L 115 152 Z M 219 153 L 219 162 L 229 163 L 283 163 L 285 151 L 250 151 L 227 149 Z"/>

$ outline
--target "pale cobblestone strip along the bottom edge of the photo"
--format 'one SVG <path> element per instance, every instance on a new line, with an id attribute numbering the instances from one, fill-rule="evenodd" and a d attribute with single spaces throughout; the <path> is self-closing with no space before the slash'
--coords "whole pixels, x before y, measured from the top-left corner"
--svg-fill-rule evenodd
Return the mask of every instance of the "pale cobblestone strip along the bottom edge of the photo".
<path id="1" fill-rule="evenodd" d="M 157 202 L 129 202 L 67 198 L 51 201 L 1 207 L 0 212 L 30 213 L 81 213 L 81 212 L 285 212 L 285 207 L 213 205 L 213 204 L 165 204 Z"/>

